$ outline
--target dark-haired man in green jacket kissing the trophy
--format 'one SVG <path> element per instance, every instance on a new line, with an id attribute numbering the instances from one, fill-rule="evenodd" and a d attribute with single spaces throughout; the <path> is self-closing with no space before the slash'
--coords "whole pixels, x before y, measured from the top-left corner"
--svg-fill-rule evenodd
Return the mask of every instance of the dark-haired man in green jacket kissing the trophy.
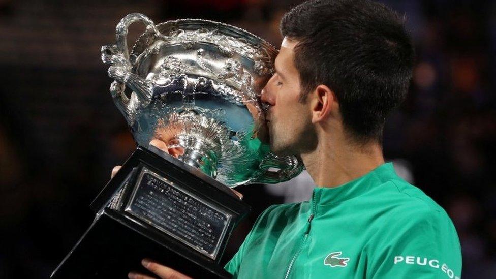
<path id="1" fill-rule="evenodd" d="M 316 187 L 309 202 L 265 210 L 226 270 L 237 278 L 459 278 L 448 215 L 382 154 L 384 123 L 412 74 L 404 22 L 371 1 L 314 0 L 289 11 L 281 32 L 261 97 L 270 146 L 300 156 Z M 162 278 L 184 276 L 143 265 Z"/>

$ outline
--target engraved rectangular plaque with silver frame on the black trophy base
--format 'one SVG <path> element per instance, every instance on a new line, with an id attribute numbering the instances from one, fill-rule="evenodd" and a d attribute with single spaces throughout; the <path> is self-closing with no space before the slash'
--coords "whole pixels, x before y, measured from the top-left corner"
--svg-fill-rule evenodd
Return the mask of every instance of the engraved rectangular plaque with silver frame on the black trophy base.
<path id="1" fill-rule="evenodd" d="M 146 168 L 125 211 L 212 259 L 219 252 L 232 217 Z"/>

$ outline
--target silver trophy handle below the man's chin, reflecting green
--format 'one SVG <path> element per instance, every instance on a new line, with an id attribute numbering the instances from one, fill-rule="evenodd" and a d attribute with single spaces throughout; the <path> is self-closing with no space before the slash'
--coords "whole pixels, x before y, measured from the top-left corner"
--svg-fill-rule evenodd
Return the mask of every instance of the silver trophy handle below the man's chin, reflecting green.
<path id="1" fill-rule="evenodd" d="M 260 168 L 262 173 L 253 182 L 276 184 L 296 177 L 305 167 L 296 157 L 279 157 L 269 153 L 260 164 Z"/>

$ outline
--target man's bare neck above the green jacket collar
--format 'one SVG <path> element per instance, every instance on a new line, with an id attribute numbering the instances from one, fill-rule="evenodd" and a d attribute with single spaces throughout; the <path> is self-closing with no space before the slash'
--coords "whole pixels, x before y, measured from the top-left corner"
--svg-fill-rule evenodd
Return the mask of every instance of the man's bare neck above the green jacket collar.
<path id="1" fill-rule="evenodd" d="M 384 164 L 378 142 L 357 146 L 346 138 L 319 138 L 317 148 L 301 154 L 317 187 L 333 188 L 359 178 Z"/>

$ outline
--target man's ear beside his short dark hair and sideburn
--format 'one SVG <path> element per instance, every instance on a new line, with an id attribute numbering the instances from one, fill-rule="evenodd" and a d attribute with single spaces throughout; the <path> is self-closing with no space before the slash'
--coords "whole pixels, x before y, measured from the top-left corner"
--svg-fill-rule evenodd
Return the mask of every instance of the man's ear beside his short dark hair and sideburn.
<path id="1" fill-rule="evenodd" d="M 336 95 L 324 84 L 318 85 L 312 92 L 312 123 L 317 123 L 336 116 L 339 110 Z"/>

